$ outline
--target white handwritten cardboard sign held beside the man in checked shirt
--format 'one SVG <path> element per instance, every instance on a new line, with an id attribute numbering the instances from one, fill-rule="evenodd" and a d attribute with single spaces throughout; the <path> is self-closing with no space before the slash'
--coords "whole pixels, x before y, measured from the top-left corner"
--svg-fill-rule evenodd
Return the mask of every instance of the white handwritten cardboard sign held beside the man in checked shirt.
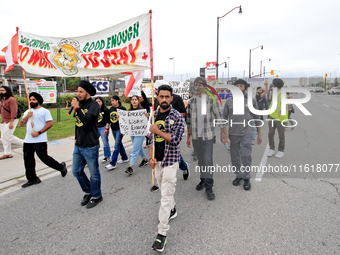
<path id="1" fill-rule="evenodd" d="M 129 136 L 147 135 L 148 118 L 146 110 L 123 111 L 117 109 L 120 132 Z"/>

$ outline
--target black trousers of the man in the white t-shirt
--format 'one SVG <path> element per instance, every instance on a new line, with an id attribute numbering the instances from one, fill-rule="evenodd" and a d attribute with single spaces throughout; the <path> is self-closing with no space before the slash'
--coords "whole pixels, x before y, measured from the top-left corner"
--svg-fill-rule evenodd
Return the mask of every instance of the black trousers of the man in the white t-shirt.
<path id="1" fill-rule="evenodd" d="M 35 173 L 35 158 L 34 152 L 37 153 L 40 160 L 47 166 L 61 171 L 63 165 L 54 158 L 47 155 L 47 142 L 44 143 L 24 143 L 24 163 L 26 169 L 26 178 L 29 182 L 38 179 Z"/>

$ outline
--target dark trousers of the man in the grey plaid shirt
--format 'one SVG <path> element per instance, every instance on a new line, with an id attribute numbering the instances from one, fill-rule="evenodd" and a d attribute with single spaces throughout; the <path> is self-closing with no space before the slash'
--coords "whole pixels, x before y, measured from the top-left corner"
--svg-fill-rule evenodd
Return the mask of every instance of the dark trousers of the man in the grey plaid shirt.
<path id="1" fill-rule="evenodd" d="M 197 154 L 198 166 L 201 172 L 201 181 L 204 181 L 205 189 L 214 186 L 213 173 L 209 171 L 209 166 L 213 165 L 213 145 L 214 139 L 203 141 L 202 138 L 192 139 L 192 145 Z"/>

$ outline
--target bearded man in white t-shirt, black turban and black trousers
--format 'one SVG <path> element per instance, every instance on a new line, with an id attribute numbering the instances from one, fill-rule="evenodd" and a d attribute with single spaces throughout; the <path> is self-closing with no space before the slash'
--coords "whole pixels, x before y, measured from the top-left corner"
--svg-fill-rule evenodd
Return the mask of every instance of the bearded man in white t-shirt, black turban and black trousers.
<path id="1" fill-rule="evenodd" d="M 35 172 L 34 152 L 37 153 L 45 165 L 60 171 L 62 177 L 65 177 L 67 174 L 65 162 L 59 163 L 47 154 L 47 130 L 53 126 L 50 111 L 41 107 L 44 100 L 40 94 L 36 92 L 30 93 L 29 100 L 32 110 L 27 110 L 19 123 L 20 126 L 27 124 L 23 152 L 28 182 L 22 185 L 23 188 L 41 182 Z M 34 131 L 32 129 L 31 119 L 33 120 Z"/>

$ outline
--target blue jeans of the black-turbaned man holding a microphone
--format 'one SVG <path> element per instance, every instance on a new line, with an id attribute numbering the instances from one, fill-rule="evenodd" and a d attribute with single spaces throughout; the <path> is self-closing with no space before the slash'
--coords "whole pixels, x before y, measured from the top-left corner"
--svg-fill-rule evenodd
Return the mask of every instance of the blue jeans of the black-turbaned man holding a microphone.
<path id="1" fill-rule="evenodd" d="M 98 164 L 99 145 L 94 147 L 74 146 L 72 173 L 77 178 L 81 189 L 86 194 L 91 194 L 93 198 L 100 198 L 101 179 Z M 90 171 L 90 180 L 87 178 L 84 167 L 88 165 Z"/>

